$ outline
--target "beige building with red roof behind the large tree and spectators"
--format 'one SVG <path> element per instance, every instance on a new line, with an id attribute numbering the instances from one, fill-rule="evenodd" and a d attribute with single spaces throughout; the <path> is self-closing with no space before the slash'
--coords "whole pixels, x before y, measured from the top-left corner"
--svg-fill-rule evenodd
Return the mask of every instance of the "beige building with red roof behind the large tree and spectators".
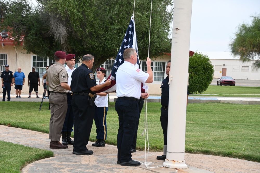
<path id="1" fill-rule="evenodd" d="M 0 47 L 0 68 L 1 73 L 5 70 L 4 66 L 6 64 L 9 65 L 9 70 L 15 73 L 18 67 L 22 68 L 22 72 L 25 74 L 25 84 L 22 89 L 22 94 L 29 95 L 29 87 L 28 87 L 28 74 L 32 71 L 32 67 L 35 67 L 36 71 L 40 74 L 40 87 L 38 87 L 39 96 L 43 93 L 43 85 L 42 85 L 42 73 L 46 71 L 46 66 L 54 63 L 55 61 L 48 58 L 41 58 L 34 54 L 25 54 L 25 50 L 22 50 L 21 47 L 15 47 L 13 44 L 14 40 L 12 38 L 1 38 L 2 46 Z M 16 49 L 17 48 L 17 49 Z M 190 55 L 192 56 L 194 52 L 190 51 Z M 161 82 L 166 78 L 165 68 L 168 60 L 171 59 L 171 54 L 168 53 L 162 57 L 159 57 L 152 61 L 152 70 L 154 81 L 151 84 L 148 84 L 148 92 L 150 95 L 160 95 L 161 94 Z M 77 67 L 80 64 L 76 64 Z M 101 65 L 106 69 L 107 76 L 111 73 L 114 66 L 114 59 L 107 60 L 105 63 Z M 140 62 L 140 68 L 143 71 L 146 71 L 146 61 Z M 3 91 L 2 88 L 0 92 Z M 11 93 L 15 93 L 14 86 L 11 89 Z M 32 92 L 32 94 L 35 94 Z"/>

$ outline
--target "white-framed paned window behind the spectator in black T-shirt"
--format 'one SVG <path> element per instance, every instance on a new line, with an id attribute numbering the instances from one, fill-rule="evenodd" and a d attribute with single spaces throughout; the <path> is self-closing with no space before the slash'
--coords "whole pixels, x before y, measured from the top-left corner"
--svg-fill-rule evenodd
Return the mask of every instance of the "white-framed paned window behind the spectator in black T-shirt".
<path id="1" fill-rule="evenodd" d="M 55 63 L 54 59 L 42 58 L 33 55 L 33 67 L 35 67 L 35 71 L 39 73 L 40 78 L 42 78 L 42 73 L 46 71 L 46 66 L 50 66 L 50 64 L 53 63 Z"/>

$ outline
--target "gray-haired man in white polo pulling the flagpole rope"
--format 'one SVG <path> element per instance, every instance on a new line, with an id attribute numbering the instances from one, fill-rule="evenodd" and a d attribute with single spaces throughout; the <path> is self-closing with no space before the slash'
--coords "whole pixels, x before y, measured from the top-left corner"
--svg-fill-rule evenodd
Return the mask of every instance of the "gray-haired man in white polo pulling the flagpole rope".
<path id="1" fill-rule="evenodd" d="M 139 119 L 138 99 L 147 98 L 148 93 L 141 93 L 141 83 L 153 82 L 151 59 L 147 58 L 147 73 L 136 68 L 137 53 L 135 49 L 128 48 L 124 51 L 125 62 L 116 72 L 115 110 L 118 113 L 119 129 L 117 135 L 118 161 L 122 166 L 138 166 L 140 162 L 132 160 L 130 152 L 135 134 L 136 122 Z"/>

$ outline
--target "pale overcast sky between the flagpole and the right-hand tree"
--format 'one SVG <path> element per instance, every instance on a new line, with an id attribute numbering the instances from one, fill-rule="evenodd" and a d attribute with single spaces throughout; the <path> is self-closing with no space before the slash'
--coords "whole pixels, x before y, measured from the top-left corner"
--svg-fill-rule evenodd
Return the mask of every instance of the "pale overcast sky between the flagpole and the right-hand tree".
<path id="1" fill-rule="evenodd" d="M 237 26 L 260 14 L 260 0 L 193 0 L 191 51 L 230 51 Z"/>

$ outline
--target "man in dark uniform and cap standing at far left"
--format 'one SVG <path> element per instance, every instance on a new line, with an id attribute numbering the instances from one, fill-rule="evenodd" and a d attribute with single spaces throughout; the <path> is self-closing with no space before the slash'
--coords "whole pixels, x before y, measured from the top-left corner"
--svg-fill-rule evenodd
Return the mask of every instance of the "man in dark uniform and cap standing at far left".
<path id="1" fill-rule="evenodd" d="M 1 80 L 2 80 L 2 88 L 3 88 L 3 101 L 5 101 L 5 95 L 7 91 L 7 101 L 11 100 L 11 87 L 14 83 L 14 75 L 13 72 L 9 70 L 9 65 L 5 65 L 5 71 L 1 74 Z"/>

